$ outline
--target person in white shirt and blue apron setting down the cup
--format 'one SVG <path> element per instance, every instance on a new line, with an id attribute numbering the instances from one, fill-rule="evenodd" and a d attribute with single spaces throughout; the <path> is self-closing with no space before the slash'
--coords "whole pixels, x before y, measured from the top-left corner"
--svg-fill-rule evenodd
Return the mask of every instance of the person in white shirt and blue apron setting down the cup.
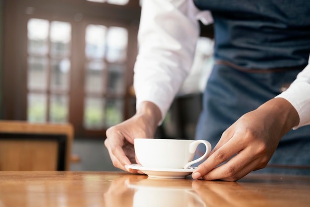
<path id="1" fill-rule="evenodd" d="M 309 11 L 308 0 L 144 1 L 134 69 L 137 113 L 106 133 L 114 166 L 126 170 L 136 162 L 134 138 L 154 136 L 191 68 L 197 19 L 210 23 L 212 17 L 216 64 L 196 138 L 214 148 L 193 178 L 236 181 L 267 163 L 309 165 Z"/>

